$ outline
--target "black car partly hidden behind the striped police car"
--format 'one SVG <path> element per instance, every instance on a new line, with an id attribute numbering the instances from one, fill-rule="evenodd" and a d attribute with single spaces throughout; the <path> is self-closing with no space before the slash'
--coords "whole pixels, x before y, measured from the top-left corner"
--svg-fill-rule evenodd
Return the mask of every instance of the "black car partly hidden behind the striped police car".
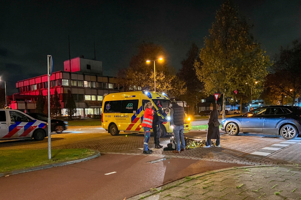
<path id="1" fill-rule="evenodd" d="M 26 114 L 37 120 L 48 122 L 48 116 L 45 114 L 41 114 L 41 113 L 26 113 Z M 64 130 L 67 129 L 67 126 L 68 126 L 68 122 L 64 122 L 64 120 L 51 119 L 51 132 L 55 131 L 56 133 L 62 133 Z"/>

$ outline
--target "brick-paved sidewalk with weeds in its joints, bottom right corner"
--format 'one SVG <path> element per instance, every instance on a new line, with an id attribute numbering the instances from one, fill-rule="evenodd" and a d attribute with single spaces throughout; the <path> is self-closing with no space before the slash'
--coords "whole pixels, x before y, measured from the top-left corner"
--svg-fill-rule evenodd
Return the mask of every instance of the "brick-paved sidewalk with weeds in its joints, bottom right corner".
<path id="1" fill-rule="evenodd" d="M 293 200 L 301 198 L 297 165 L 228 168 L 197 174 L 126 200 Z"/>

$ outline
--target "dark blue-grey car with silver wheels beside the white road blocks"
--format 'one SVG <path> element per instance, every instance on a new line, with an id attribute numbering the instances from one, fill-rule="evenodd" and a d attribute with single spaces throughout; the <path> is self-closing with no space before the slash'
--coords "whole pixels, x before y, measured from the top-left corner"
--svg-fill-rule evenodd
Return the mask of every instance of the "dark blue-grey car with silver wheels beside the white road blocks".
<path id="1" fill-rule="evenodd" d="M 244 115 L 222 120 L 222 131 L 229 135 L 243 133 L 267 133 L 294 139 L 301 132 L 301 107 L 265 106 Z"/>

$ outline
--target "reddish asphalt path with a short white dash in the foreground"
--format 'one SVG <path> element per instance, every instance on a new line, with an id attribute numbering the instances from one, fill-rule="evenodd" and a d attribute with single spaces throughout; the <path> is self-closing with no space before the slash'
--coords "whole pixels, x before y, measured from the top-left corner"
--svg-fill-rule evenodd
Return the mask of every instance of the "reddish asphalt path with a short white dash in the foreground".
<path id="1" fill-rule="evenodd" d="M 122 200 L 185 176 L 232 166 L 161 156 L 103 154 L 90 161 L 0 177 L 0 199 Z M 113 174 L 105 175 L 110 172 Z"/>

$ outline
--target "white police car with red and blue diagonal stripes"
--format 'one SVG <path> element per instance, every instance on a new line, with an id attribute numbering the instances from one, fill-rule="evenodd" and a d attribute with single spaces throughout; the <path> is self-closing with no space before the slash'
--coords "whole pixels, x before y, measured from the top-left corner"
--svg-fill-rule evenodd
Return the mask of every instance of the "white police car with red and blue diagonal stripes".
<path id="1" fill-rule="evenodd" d="M 0 140 L 47 137 L 47 123 L 36 120 L 19 110 L 0 109 Z"/>

